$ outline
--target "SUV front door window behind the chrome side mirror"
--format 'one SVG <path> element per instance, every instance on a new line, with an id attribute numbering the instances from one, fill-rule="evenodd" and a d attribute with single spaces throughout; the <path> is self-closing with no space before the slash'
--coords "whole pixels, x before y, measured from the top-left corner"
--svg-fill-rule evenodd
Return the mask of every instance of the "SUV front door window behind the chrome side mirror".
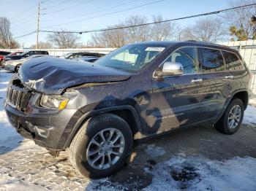
<path id="1" fill-rule="evenodd" d="M 196 74 L 199 71 L 196 47 L 182 47 L 176 50 L 170 55 L 167 62 L 181 63 L 183 74 Z"/>

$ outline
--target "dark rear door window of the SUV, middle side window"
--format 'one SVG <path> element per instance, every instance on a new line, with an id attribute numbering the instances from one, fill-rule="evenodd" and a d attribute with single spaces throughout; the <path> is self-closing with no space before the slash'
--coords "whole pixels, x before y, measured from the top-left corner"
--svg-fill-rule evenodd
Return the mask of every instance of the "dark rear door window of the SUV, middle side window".
<path id="1" fill-rule="evenodd" d="M 200 52 L 200 63 L 202 71 L 214 72 L 223 71 L 225 69 L 222 52 L 210 48 L 198 48 Z"/>

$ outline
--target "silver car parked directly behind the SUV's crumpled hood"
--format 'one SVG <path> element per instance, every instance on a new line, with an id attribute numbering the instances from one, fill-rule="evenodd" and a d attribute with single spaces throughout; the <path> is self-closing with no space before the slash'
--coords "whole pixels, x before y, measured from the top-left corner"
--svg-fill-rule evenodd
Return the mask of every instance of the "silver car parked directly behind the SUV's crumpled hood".
<path id="1" fill-rule="evenodd" d="M 24 62 L 29 61 L 32 58 L 37 58 L 37 57 L 41 57 L 41 56 L 45 56 L 45 55 L 31 55 L 29 57 L 22 58 L 20 60 L 5 61 L 4 64 L 3 64 L 4 65 L 4 69 L 6 69 L 7 71 L 18 72 L 18 69 L 20 69 L 20 66 Z"/>

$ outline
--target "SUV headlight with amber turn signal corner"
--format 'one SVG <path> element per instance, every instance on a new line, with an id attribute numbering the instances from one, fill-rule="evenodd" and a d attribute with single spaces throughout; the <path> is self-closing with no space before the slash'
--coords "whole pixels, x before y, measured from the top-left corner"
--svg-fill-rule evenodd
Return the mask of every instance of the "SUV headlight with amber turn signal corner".
<path id="1" fill-rule="evenodd" d="M 62 110 L 67 106 L 68 98 L 64 98 L 58 95 L 42 95 L 40 99 L 40 106 L 48 109 Z"/>

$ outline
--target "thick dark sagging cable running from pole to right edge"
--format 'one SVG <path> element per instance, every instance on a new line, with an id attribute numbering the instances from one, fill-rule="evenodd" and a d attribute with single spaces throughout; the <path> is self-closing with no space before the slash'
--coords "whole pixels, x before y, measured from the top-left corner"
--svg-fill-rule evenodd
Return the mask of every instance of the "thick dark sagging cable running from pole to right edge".
<path id="1" fill-rule="evenodd" d="M 202 14 L 198 14 L 198 15 L 190 15 L 190 16 L 187 16 L 187 17 L 178 17 L 178 18 L 174 18 L 174 19 L 161 20 L 161 21 L 151 22 L 151 23 L 143 23 L 143 24 L 133 25 L 133 26 L 122 26 L 122 27 L 116 27 L 116 28 L 94 29 L 94 30 L 90 30 L 90 31 L 46 31 L 46 30 L 41 30 L 41 32 L 82 34 L 82 33 L 100 32 L 100 31 L 113 31 L 113 30 L 124 29 L 124 28 L 132 28 L 132 27 L 138 27 L 138 26 L 148 26 L 148 25 L 152 25 L 152 24 L 166 23 L 166 22 L 176 21 L 176 20 L 184 20 L 184 19 L 193 18 L 193 17 L 202 17 L 202 16 L 206 16 L 206 15 L 217 15 L 217 14 L 222 13 L 222 12 L 228 12 L 228 11 L 231 11 L 231 10 L 234 10 L 234 9 L 244 9 L 246 7 L 252 7 L 252 6 L 255 6 L 255 5 L 256 5 L 256 3 L 255 4 L 246 4 L 246 5 L 243 5 L 243 6 L 233 7 L 233 8 L 228 8 L 228 9 L 221 9 L 221 10 L 214 11 L 214 12 L 206 12 L 206 13 L 202 13 Z"/>

